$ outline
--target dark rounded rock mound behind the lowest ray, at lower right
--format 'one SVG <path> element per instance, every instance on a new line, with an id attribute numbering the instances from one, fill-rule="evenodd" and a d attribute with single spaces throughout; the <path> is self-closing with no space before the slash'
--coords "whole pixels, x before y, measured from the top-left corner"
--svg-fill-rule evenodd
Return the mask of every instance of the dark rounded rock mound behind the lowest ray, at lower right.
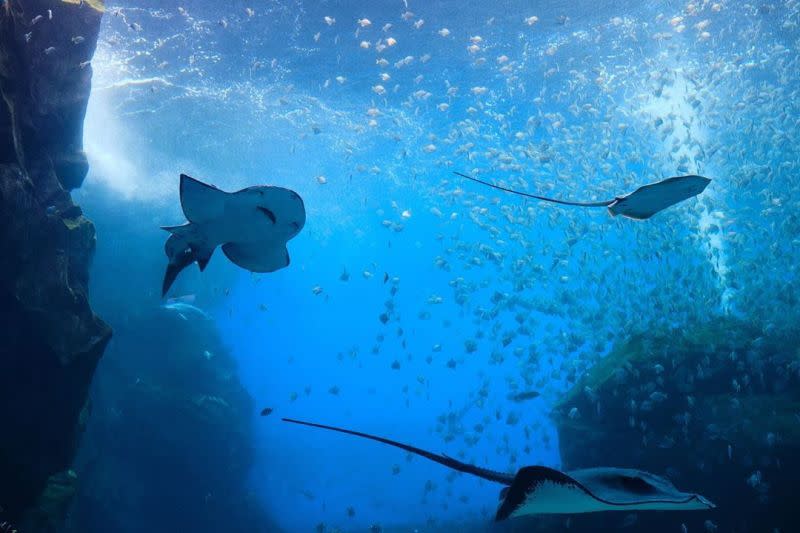
<path id="1" fill-rule="evenodd" d="M 637 336 L 557 407 L 566 468 L 631 466 L 666 475 L 718 510 L 575 517 L 575 531 L 800 531 L 798 337 L 720 320 Z M 713 524 L 706 524 L 710 520 Z"/>

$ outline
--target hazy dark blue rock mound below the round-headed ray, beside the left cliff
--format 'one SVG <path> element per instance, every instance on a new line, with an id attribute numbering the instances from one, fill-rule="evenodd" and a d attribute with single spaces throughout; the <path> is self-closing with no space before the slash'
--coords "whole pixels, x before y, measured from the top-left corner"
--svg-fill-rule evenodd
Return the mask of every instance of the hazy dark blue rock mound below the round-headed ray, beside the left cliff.
<path id="1" fill-rule="evenodd" d="M 115 332 L 67 531 L 277 532 L 247 489 L 256 409 L 214 323 L 144 308 Z"/>

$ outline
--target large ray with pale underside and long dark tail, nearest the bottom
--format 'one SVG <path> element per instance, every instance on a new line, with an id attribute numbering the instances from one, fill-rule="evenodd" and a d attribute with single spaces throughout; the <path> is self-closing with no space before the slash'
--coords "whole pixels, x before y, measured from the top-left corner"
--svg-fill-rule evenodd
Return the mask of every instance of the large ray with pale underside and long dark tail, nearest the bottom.
<path id="1" fill-rule="evenodd" d="M 291 418 L 282 420 L 378 441 L 458 472 L 505 485 L 500 492 L 496 521 L 538 514 L 693 511 L 715 507 L 699 494 L 681 492 L 669 480 L 640 470 L 600 467 L 561 472 L 546 466 L 526 466 L 516 474 L 507 474 L 359 431 Z"/>

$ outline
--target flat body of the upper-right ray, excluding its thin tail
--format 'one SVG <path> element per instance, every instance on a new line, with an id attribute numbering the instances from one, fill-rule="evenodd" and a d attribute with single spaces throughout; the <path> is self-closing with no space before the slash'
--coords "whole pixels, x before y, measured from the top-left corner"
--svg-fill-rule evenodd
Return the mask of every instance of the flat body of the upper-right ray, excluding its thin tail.
<path id="1" fill-rule="evenodd" d="M 614 216 L 646 220 L 667 207 L 697 196 L 709 183 L 710 179 L 695 175 L 667 178 L 617 198 L 608 206 L 608 211 Z"/>

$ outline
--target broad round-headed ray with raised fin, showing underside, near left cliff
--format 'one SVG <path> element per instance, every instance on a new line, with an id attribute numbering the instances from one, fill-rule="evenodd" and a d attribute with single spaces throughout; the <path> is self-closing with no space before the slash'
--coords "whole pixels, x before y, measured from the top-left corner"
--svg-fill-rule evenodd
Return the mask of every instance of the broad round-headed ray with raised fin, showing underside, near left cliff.
<path id="1" fill-rule="evenodd" d="M 180 195 L 189 222 L 163 227 L 171 235 L 164 245 L 169 263 L 162 295 L 192 263 L 205 270 L 217 246 L 231 262 L 251 272 L 289 266 L 286 243 L 306 223 L 303 199 L 296 192 L 272 186 L 225 192 L 181 174 Z"/>

